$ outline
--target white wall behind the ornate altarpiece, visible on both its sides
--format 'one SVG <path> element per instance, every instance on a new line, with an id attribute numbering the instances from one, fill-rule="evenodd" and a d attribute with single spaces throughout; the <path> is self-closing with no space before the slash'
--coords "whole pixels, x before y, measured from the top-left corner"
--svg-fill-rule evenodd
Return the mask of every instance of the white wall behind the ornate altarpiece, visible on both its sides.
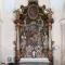
<path id="1" fill-rule="evenodd" d="M 13 41 L 15 39 L 15 28 L 13 24 L 13 10 L 20 8 L 21 4 L 27 5 L 27 0 L 1 0 L 3 4 L 1 5 L 2 10 L 2 62 L 8 62 L 8 57 L 14 56 L 14 46 Z M 50 6 L 49 0 L 39 0 L 39 4 L 48 3 L 48 8 Z M 62 17 L 62 8 L 64 0 L 50 0 L 51 8 L 54 12 L 54 24 L 52 30 L 52 38 L 54 40 L 54 47 L 56 49 L 54 52 L 54 65 L 61 65 L 61 27 L 60 20 Z"/>

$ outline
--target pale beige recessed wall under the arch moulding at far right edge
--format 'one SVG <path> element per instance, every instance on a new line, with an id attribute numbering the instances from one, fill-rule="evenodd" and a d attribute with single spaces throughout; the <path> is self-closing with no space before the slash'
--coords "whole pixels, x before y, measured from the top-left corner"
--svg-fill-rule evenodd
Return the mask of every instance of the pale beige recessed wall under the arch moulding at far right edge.
<path id="1" fill-rule="evenodd" d="M 62 65 L 65 65 L 65 20 L 61 21 L 61 30 L 62 30 L 61 58 L 62 58 Z"/>

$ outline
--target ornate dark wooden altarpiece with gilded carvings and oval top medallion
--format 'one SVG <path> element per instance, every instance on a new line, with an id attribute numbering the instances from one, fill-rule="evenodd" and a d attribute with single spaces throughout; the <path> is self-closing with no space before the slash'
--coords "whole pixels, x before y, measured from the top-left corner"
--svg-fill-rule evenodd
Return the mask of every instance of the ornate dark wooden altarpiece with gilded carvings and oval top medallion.
<path id="1" fill-rule="evenodd" d="M 39 6 L 38 0 L 28 0 L 15 13 L 15 63 L 22 57 L 48 57 L 52 62 L 52 11 Z"/>

